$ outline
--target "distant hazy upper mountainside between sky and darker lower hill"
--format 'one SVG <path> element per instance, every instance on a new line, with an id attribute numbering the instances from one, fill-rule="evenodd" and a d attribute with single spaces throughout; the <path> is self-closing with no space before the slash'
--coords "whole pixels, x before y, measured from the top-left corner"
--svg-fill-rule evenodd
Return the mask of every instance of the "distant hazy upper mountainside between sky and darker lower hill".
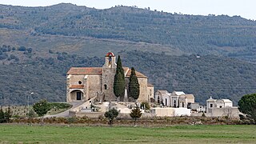
<path id="1" fill-rule="evenodd" d="M 100 56 L 102 50 L 215 54 L 256 62 L 256 22 L 239 16 L 170 14 L 130 6 L 0 5 L 0 43 Z M 19 34 L 18 38 L 15 37 Z M 64 41 L 59 41 L 62 38 Z M 47 45 L 45 45 L 45 43 Z M 148 47 L 148 49 L 147 49 Z"/>

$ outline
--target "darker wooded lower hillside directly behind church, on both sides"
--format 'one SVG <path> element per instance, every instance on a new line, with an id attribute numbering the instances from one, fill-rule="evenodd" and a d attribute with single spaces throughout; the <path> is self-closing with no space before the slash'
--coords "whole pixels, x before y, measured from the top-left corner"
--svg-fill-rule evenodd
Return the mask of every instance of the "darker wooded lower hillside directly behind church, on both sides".
<path id="1" fill-rule="evenodd" d="M 66 71 L 71 66 L 102 66 L 103 57 L 82 57 L 66 52 L 46 53 L 24 47 L 1 47 L 0 103 L 26 104 L 46 98 L 66 100 Z M 207 98 L 230 98 L 237 104 L 244 94 L 256 93 L 256 65 L 236 59 L 205 55 L 170 56 L 138 50 L 119 53 L 123 66 L 146 74 L 155 90 L 183 90 L 197 102 Z M 47 55 L 43 56 L 43 55 Z"/>

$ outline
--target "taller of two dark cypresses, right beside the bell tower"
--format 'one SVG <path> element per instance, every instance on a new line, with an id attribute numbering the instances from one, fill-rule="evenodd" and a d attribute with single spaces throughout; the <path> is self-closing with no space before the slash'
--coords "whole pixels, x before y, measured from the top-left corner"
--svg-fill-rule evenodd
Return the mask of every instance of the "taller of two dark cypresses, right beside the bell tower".
<path id="1" fill-rule="evenodd" d="M 122 69 L 122 62 L 120 55 L 118 55 L 117 70 L 114 74 L 114 95 L 118 98 L 125 95 L 126 81 L 125 74 Z"/>

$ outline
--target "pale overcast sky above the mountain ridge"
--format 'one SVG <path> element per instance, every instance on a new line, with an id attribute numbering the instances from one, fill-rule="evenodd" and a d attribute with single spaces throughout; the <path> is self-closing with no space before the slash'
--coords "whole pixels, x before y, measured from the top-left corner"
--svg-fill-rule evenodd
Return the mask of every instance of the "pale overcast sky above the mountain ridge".
<path id="1" fill-rule="evenodd" d="M 14 6 L 50 6 L 61 2 L 97 9 L 117 5 L 138 6 L 170 13 L 240 15 L 256 20 L 256 0 L 0 0 L 0 4 Z"/>

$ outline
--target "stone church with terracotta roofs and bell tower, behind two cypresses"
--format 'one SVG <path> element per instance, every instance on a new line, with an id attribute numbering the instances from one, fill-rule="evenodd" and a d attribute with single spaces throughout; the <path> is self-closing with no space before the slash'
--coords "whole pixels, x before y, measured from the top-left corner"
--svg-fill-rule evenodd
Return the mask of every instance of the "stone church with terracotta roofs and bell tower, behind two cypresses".
<path id="1" fill-rule="evenodd" d="M 98 100 L 116 101 L 114 95 L 114 74 L 117 64 L 115 55 L 111 52 L 105 56 L 105 64 L 102 67 L 71 67 L 66 77 L 66 102 L 87 101 L 97 96 Z M 126 79 L 126 92 L 120 101 L 129 102 L 127 96 L 130 68 L 123 67 Z M 140 86 L 138 102 L 150 102 L 154 98 L 154 86 L 148 83 L 147 77 L 136 71 Z"/>

